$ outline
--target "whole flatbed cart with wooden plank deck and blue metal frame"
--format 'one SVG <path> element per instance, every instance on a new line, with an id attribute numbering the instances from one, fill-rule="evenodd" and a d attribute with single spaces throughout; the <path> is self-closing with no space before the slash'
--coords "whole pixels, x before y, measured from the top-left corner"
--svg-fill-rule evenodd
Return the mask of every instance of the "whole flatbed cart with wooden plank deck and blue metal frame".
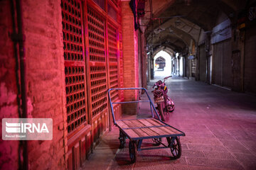
<path id="1" fill-rule="evenodd" d="M 112 102 L 110 91 L 112 90 L 143 90 L 146 92 L 149 101 L 123 101 L 123 102 Z M 170 148 L 171 154 L 174 159 L 181 157 L 181 142 L 179 140 L 180 136 L 185 136 L 184 132 L 178 130 L 171 125 L 168 125 L 161 121 L 159 114 L 152 103 L 149 94 L 144 88 L 118 88 L 118 89 L 109 89 L 108 96 L 110 98 L 110 106 L 112 111 L 112 117 L 114 125 L 119 128 L 119 142 L 120 148 L 124 148 L 126 139 L 129 139 L 129 157 L 132 162 L 137 160 L 137 151 L 148 150 L 148 149 L 164 149 Z M 128 119 L 128 120 L 115 120 L 114 118 L 114 103 L 139 103 L 139 102 L 149 102 L 151 108 L 152 118 L 138 118 L 138 119 Z M 158 118 L 154 118 L 154 113 L 156 113 Z M 161 139 L 166 137 L 168 145 L 165 145 L 161 142 Z M 146 139 L 152 139 L 155 145 L 159 147 L 144 147 L 142 148 L 142 141 Z"/>

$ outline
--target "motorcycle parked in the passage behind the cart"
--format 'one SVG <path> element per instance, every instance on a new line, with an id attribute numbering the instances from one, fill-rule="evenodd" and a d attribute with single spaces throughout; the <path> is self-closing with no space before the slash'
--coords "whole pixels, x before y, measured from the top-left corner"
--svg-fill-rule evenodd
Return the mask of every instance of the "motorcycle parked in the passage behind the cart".
<path id="1" fill-rule="evenodd" d="M 168 88 L 164 83 L 170 77 L 164 77 L 164 81 L 156 81 L 153 86 L 153 88 L 156 86 L 156 89 L 151 91 L 154 94 L 154 103 L 157 105 L 156 109 L 159 111 L 162 121 L 165 121 L 164 115 L 174 111 L 174 101 L 167 96 Z"/>

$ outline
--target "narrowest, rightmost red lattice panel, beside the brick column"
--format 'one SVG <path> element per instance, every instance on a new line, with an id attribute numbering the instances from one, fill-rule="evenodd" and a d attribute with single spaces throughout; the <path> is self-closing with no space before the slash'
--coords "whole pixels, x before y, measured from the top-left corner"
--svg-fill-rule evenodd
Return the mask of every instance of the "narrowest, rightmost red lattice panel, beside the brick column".
<path id="1" fill-rule="evenodd" d="M 110 65 L 110 88 L 118 88 L 117 29 L 107 25 L 108 55 Z M 111 91 L 112 100 L 119 98 L 118 91 Z"/>

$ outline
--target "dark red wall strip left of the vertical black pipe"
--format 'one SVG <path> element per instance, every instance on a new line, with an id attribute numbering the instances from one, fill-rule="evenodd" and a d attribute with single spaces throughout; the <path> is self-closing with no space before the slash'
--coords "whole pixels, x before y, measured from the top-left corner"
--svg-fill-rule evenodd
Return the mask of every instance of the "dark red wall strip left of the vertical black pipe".
<path id="1" fill-rule="evenodd" d="M 0 118 L 18 118 L 10 1 L 0 1 Z M 0 121 L 0 126 L 1 121 Z M 0 132 L 1 133 L 1 132 Z M 18 141 L 0 140 L 0 169 L 18 169 Z"/>

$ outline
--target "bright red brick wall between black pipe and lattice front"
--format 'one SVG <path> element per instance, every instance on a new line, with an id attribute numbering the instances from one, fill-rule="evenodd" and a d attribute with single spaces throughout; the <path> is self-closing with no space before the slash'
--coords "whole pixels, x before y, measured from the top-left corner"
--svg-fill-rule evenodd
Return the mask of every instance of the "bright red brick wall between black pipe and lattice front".
<path id="1" fill-rule="evenodd" d="M 53 118 L 53 140 L 28 141 L 30 169 L 65 169 L 66 165 L 65 77 L 60 10 L 60 1 L 33 0 L 23 3 L 28 117 Z"/>

